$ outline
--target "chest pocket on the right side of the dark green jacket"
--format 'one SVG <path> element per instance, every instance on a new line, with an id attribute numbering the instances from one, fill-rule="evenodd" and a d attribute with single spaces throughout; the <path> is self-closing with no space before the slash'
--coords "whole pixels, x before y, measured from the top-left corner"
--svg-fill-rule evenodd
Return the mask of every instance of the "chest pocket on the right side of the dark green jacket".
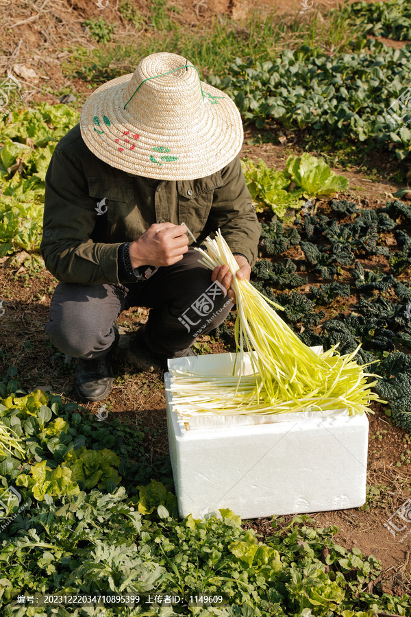
<path id="1" fill-rule="evenodd" d="M 188 229 L 198 236 L 210 214 L 214 189 L 222 184 L 221 173 L 214 173 L 199 180 L 179 180 L 177 182 L 179 224 L 186 223 Z"/>

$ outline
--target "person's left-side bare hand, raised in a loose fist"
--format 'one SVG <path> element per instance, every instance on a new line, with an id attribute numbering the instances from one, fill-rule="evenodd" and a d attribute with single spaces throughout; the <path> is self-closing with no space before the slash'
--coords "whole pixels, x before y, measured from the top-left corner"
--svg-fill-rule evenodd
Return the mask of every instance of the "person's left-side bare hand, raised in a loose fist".
<path id="1" fill-rule="evenodd" d="M 188 237 L 184 225 L 153 223 L 138 240 L 129 247 L 132 266 L 155 267 L 177 263 L 188 251 Z"/>

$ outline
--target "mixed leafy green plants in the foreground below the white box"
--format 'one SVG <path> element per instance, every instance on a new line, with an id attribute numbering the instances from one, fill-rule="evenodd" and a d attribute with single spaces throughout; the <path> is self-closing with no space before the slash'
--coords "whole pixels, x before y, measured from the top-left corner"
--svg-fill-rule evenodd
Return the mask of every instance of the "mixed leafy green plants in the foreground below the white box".
<path id="1" fill-rule="evenodd" d="M 173 609 L 106 606 L 106 617 L 406 616 L 411 607 L 408 596 L 385 594 L 379 583 L 372 594 L 362 591 L 379 562 L 335 544 L 336 528 L 315 529 L 308 516 L 273 520 L 265 542 L 229 509 L 221 518 L 178 520 L 175 496 L 158 481 L 161 465 L 149 471 L 157 479 L 137 485 L 147 483 L 143 431 L 97 422 L 59 396 L 25 394 L 12 368 L 0 382 L 0 430 L 9 433 L 0 450 L 5 616 L 55 614 L 18 605 L 20 594 L 182 598 Z M 189 607 L 189 596 L 202 593 L 223 594 L 228 606 Z M 66 605 L 59 614 L 100 611 Z"/>

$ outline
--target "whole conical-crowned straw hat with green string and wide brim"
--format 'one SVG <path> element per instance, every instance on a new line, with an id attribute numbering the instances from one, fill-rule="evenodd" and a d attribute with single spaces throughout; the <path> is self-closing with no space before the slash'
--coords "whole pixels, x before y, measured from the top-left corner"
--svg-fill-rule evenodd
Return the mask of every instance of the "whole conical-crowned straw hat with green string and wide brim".
<path id="1" fill-rule="evenodd" d="M 100 86 L 80 117 L 88 148 L 112 167 L 158 180 L 195 180 L 232 161 L 242 121 L 225 93 L 175 53 L 153 53 Z"/>

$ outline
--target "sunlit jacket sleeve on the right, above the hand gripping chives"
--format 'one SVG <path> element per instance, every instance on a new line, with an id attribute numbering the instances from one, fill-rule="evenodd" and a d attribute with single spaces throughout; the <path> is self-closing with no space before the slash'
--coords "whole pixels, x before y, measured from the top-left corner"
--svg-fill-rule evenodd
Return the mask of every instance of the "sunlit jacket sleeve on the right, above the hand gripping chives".
<path id="1" fill-rule="evenodd" d="M 253 266 L 258 254 L 261 225 L 238 156 L 224 167 L 221 178 L 223 186 L 214 189 L 208 222 L 214 229 L 221 229 L 233 253 L 245 255 Z"/>

